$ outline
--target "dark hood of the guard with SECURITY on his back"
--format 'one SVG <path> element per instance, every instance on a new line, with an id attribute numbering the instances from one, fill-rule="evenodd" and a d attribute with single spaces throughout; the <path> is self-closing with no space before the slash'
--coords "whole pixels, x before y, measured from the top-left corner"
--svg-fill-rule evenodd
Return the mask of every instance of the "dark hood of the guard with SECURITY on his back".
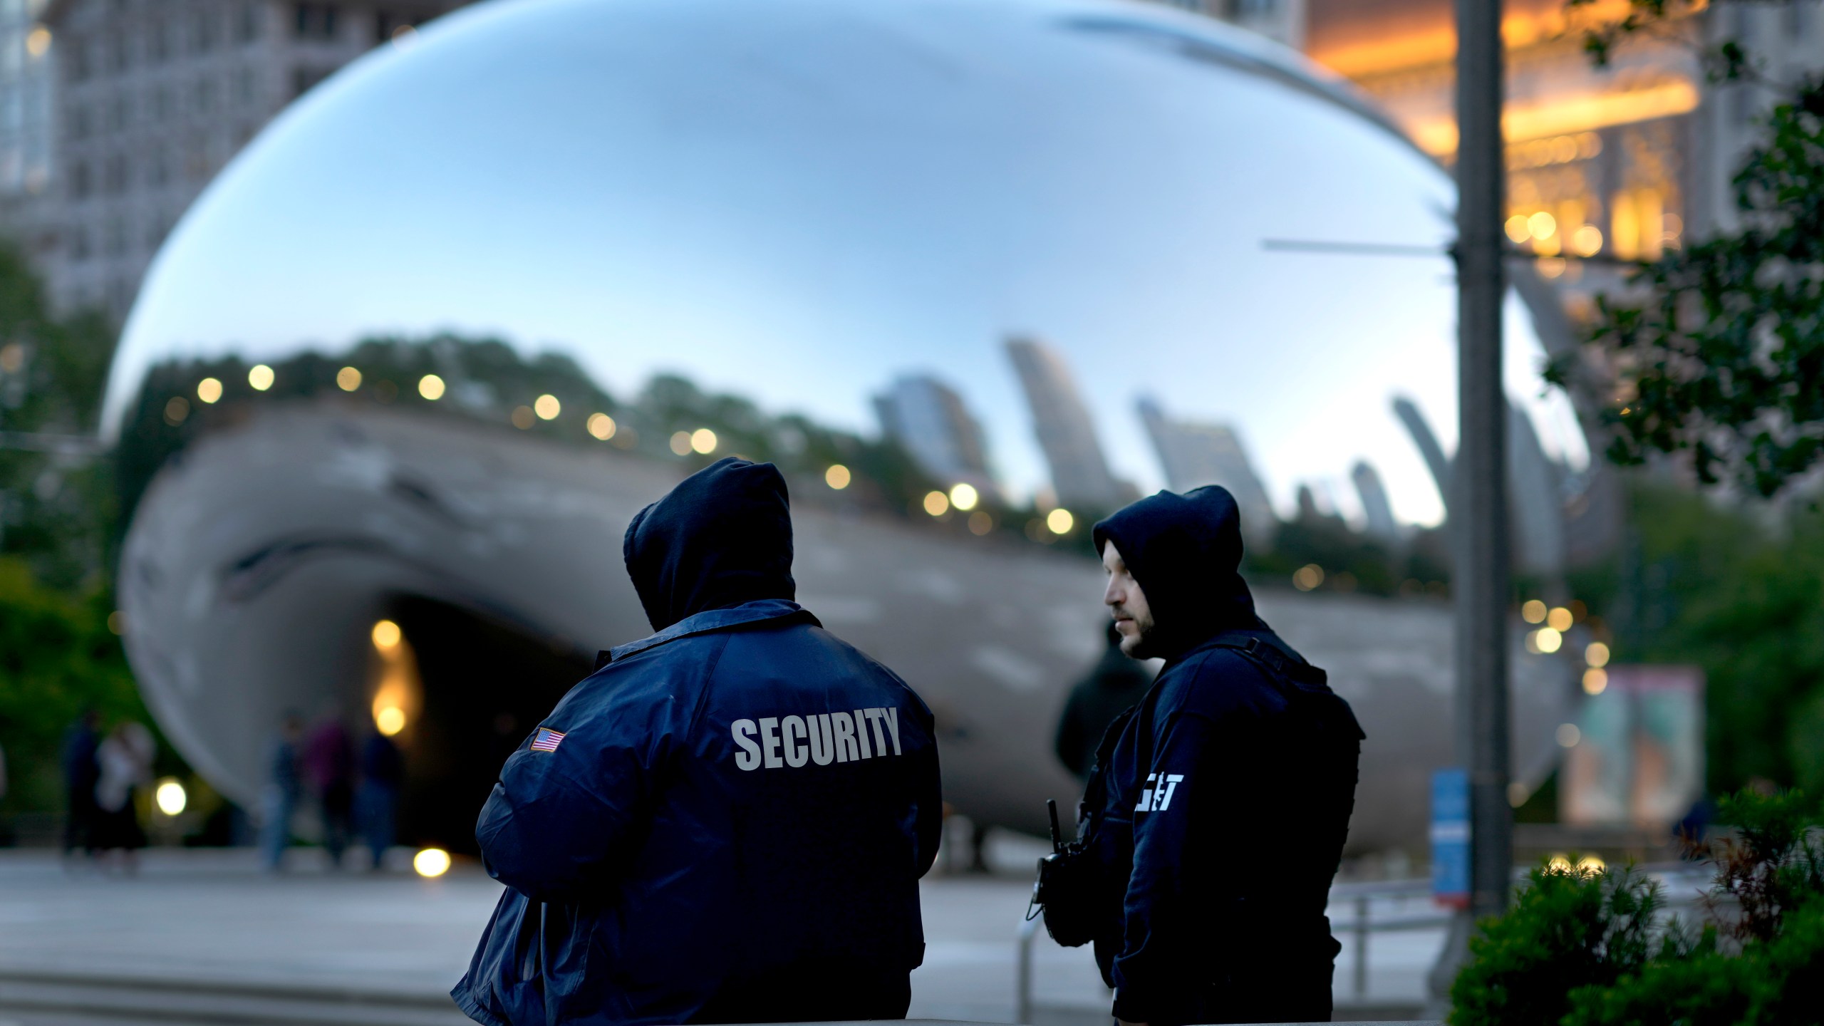
<path id="1" fill-rule="evenodd" d="M 693 473 L 640 509 L 620 551 L 653 630 L 704 610 L 797 595 L 792 498 L 772 464 L 728 456 Z"/>

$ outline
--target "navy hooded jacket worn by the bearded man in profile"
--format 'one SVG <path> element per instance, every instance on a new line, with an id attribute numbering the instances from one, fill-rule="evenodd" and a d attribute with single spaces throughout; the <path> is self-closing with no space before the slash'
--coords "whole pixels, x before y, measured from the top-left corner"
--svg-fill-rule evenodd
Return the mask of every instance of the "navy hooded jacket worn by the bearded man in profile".
<path id="1" fill-rule="evenodd" d="M 1330 1019 L 1324 918 L 1355 801 L 1346 701 L 1255 615 L 1235 498 L 1160 491 L 1102 520 L 1166 666 L 1104 738 L 1080 831 L 1104 867 L 1096 960 L 1129 1022 Z"/>

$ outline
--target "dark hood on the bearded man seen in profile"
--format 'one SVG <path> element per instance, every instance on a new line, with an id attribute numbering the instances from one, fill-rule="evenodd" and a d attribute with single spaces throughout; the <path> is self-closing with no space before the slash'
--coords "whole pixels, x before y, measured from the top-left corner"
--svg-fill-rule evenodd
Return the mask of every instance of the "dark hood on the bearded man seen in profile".
<path id="1" fill-rule="evenodd" d="M 1145 592 L 1153 632 L 1136 655 L 1184 654 L 1224 630 L 1266 630 L 1242 581 L 1242 517 L 1222 486 L 1160 491 L 1096 524 Z"/>

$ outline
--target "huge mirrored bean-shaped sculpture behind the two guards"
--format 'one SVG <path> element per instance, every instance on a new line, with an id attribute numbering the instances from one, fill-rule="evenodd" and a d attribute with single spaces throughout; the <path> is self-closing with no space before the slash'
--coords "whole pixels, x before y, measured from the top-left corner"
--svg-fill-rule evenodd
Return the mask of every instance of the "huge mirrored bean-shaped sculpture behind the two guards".
<path id="1" fill-rule="evenodd" d="M 498 747 L 648 632 L 627 518 L 728 453 L 788 469 L 801 601 L 930 701 L 958 809 L 1034 831 L 1091 515 L 1220 480 L 1262 553 L 1297 508 L 1383 551 L 1445 517 L 1448 261 L 1268 243 L 1441 254 L 1450 183 L 1290 51 L 1094 0 L 498 0 L 409 42 L 210 186 L 109 383 L 128 652 L 241 801 L 285 708 L 372 714 L 463 843 Z M 1549 570 L 1585 444 L 1518 301 L 1510 349 Z M 1260 608 L 1368 730 L 1352 842 L 1414 843 L 1448 602 L 1339 579 Z M 1525 769 L 1574 688 L 1516 675 Z"/>

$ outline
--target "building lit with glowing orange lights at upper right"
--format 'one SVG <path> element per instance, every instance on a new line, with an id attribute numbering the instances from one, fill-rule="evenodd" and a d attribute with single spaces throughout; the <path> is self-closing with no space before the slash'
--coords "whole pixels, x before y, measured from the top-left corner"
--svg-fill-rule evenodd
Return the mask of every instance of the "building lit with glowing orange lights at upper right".
<path id="1" fill-rule="evenodd" d="M 1713 84 L 1702 46 L 1740 40 L 1773 82 L 1824 69 L 1819 0 L 1693 4 L 1663 33 L 1629 37 L 1592 68 L 1583 27 L 1629 13 L 1600 0 L 1508 0 L 1508 237 L 1567 287 L 1572 312 L 1620 283 L 1580 256 L 1658 257 L 1693 234 L 1733 225 L 1731 177 L 1775 93 Z M 1456 157 L 1452 0 L 1308 0 L 1304 51 L 1352 79 L 1443 164 Z"/>

